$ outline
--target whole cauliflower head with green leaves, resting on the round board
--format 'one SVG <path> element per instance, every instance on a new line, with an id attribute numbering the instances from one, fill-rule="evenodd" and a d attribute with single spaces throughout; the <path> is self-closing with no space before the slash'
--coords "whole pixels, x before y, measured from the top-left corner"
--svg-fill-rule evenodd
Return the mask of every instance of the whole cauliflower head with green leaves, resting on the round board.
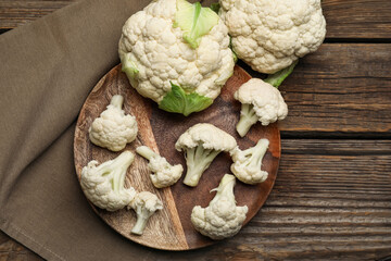
<path id="1" fill-rule="evenodd" d="M 131 15 L 118 53 L 140 95 L 185 115 L 212 104 L 235 65 L 227 26 L 211 9 L 186 0 L 152 1 Z"/>

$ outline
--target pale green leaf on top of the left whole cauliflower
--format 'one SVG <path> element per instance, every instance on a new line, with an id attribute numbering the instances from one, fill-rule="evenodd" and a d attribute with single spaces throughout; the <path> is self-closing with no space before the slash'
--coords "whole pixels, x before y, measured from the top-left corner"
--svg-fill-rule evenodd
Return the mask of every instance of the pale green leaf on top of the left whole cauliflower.
<path id="1" fill-rule="evenodd" d="M 184 30 L 184 39 L 191 48 L 197 49 L 201 37 L 206 35 L 218 23 L 218 15 L 210 8 L 202 8 L 200 2 L 189 3 L 177 0 L 174 27 Z"/>

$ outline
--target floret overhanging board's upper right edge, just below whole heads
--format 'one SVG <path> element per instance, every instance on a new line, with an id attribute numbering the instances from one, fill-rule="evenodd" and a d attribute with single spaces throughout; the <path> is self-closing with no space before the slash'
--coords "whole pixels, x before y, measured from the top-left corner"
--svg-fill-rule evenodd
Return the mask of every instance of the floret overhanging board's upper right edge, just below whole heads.
<path id="1" fill-rule="evenodd" d="M 260 78 L 252 78 L 240 86 L 234 97 L 242 103 L 237 124 L 241 137 L 257 121 L 266 126 L 288 115 L 288 105 L 279 90 Z"/>

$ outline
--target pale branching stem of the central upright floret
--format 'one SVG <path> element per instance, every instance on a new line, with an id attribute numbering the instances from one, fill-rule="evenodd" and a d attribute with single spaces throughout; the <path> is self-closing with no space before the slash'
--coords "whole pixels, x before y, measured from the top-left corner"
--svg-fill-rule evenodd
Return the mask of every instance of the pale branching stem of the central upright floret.
<path id="1" fill-rule="evenodd" d="M 190 187 L 195 187 L 202 176 L 202 173 L 210 166 L 219 152 L 219 150 L 204 149 L 203 146 L 187 148 L 187 173 L 184 183 Z"/>

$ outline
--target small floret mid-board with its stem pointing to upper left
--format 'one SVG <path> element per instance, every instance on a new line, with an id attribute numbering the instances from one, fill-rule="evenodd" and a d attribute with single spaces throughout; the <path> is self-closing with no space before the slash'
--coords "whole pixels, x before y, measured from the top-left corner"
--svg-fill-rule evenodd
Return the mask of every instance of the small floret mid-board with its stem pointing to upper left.
<path id="1" fill-rule="evenodd" d="M 168 187 L 175 184 L 184 172 L 184 167 L 180 164 L 171 165 L 164 157 L 155 153 L 147 146 L 138 147 L 136 152 L 149 160 L 148 167 L 152 172 L 150 177 L 153 186 L 156 188 Z"/>

